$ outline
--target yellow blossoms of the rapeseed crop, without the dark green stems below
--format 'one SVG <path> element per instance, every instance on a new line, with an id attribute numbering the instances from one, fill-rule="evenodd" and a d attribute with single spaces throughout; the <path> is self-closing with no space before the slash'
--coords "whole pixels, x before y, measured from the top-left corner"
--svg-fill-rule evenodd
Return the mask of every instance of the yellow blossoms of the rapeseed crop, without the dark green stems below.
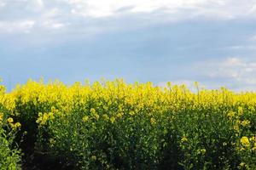
<path id="1" fill-rule="evenodd" d="M 20 114 L 36 112 L 33 117 L 31 115 L 27 117 L 28 119 L 32 117 L 32 120 L 37 118 L 39 127 L 47 127 L 48 122 L 54 122 L 53 120 L 61 117 L 64 117 L 60 121 L 63 125 L 71 122 L 81 123 L 81 126 L 91 123 L 91 127 L 96 127 L 96 123 L 108 122 L 108 125 L 114 127 L 115 123 L 126 121 L 129 127 L 137 118 L 154 129 L 159 127 L 160 120 L 172 121 L 180 115 L 183 119 L 187 119 L 183 117 L 183 112 L 193 114 L 202 111 L 203 114 L 200 115 L 202 117 L 219 114 L 219 117 L 226 119 L 225 123 L 228 124 L 229 130 L 236 133 L 236 141 L 233 142 L 239 149 L 242 147 L 244 150 L 256 150 L 255 137 L 251 137 L 254 132 L 250 131 L 250 127 L 255 126 L 253 122 L 255 119 L 250 117 L 255 115 L 256 93 L 235 93 L 226 88 L 202 89 L 198 82 L 195 82 L 195 88 L 196 92 L 193 92 L 185 85 L 177 86 L 171 82 L 168 82 L 164 88 L 154 86 L 152 82 L 127 84 L 121 79 L 92 84 L 76 82 L 71 86 L 59 81 L 44 83 L 43 80 L 40 82 L 30 80 L 26 85 L 17 86 L 9 94 L 2 93 L 0 105 L 4 105 L 4 109 L 8 110 L 14 118 Z M 0 91 L 3 92 L 3 89 Z M 21 111 L 16 109 L 20 107 Z M 190 118 L 199 122 L 200 116 Z M 65 120 L 66 117 L 72 117 L 72 119 Z M 212 120 L 215 121 L 216 117 Z M 189 121 L 193 122 L 191 120 Z M 0 113 L 0 122 L 2 121 L 3 114 Z M 11 117 L 4 122 L 15 128 L 21 126 L 19 122 L 14 123 Z M 185 123 L 184 126 L 186 126 Z M 193 142 L 188 132 L 190 131 L 179 134 L 178 143 L 186 145 L 189 141 Z M 50 144 L 55 144 L 54 139 L 49 141 Z M 227 141 L 222 144 L 224 147 L 230 145 Z M 198 152 L 202 156 L 211 151 L 204 148 L 207 147 L 196 148 L 195 153 Z M 91 159 L 98 160 L 100 157 L 92 156 Z"/>

